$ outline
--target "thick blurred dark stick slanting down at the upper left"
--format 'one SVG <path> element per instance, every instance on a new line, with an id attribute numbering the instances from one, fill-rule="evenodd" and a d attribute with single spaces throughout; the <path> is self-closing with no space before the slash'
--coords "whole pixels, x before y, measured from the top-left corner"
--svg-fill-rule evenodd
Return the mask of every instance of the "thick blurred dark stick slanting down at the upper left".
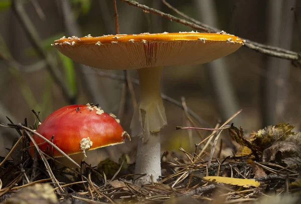
<path id="1" fill-rule="evenodd" d="M 45 60 L 47 68 L 51 76 L 53 77 L 54 81 L 61 87 L 64 96 L 67 98 L 70 104 L 74 104 L 76 97 L 70 92 L 67 87 L 67 84 L 64 82 L 64 79 L 57 69 L 52 57 L 47 54 L 42 46 L 42 41 L 39 37 L 39 34 L 34 27 L 33 23 L 31 22 L 30 18 L 26 14 L 22 1 L 13 0 L 12 2 L 12 9 L 17 16 L 21 26 L 24 28 L 28 39 L 30 40 L 31 44 L 39 54 L 39 56 Z"/>

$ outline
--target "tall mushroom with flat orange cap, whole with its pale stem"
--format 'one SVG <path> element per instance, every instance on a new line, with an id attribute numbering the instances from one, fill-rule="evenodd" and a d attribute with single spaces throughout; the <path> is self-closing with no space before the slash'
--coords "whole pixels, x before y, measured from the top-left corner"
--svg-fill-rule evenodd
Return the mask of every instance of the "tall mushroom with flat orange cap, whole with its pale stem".
<path id="1" fill-rule="evenodd" d="M 211 62 L 238 50 L 243 41 L 221 33 L 161 33 L 75 36 L 55 41 L 61 53 L 74 61 L 110 70 L 138 69 L 140 102 L 131 121 L 132 136 L 139 136 L 135 173 L 146 173 L 141 182 L 161 175 L 160 131 L 167 125 L 160 95 L 164 66 Z"/>

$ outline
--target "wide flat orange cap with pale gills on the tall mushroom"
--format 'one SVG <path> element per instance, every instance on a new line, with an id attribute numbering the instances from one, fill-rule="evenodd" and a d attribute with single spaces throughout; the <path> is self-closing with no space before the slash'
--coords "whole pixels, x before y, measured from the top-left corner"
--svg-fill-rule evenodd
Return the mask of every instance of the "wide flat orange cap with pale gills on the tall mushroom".
<path id="1" fill-rule="evenodd" d="M 211 62 L 238 50 L 244 41 L 221 33 L 160 33 L 75 36 L 54 42 L 72 60 L 101 69 L 139 69 Z"/>

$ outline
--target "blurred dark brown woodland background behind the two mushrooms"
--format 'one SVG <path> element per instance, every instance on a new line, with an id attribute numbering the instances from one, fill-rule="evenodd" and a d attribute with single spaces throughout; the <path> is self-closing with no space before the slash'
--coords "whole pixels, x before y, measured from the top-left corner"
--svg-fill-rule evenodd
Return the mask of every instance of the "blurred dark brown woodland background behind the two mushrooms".
<path id="1" fill-rule="evenodd" d="M 137 2 L 179 17 L 161 0 Z M 233 35 L 300 51 L 299 1 L 167 2 L 186 15 Z M 120 1 L 117 1 L 117 9 L 121 34 L 192 30 Z M 111 0 L 0 0 L 0 121 L 7 123 L 5 116 L 8 116 L 15 123 L 28 118 L 32 124 L 35 120 L 32 109 L 41 111 L 43 120 L 52 111 L 70 103 L 93 102 L 99 103 L 106 112 L 119 115 L 122 126 L 129 131 L 133 105 L 131 95 L 122 92 L 123 72 L 77 64 L 50 46 L 62 36 L 88 34 L 115 34 Z M 199 117 L 199 127 L 214 127 L 218 119 L 226 120 L 243 109 L 232 122 L 243 126 L 246 132 L 279 122 L 292 123 L 300 129 L 300 75 L 299 67 L 290 61 L 243 47 L 207 65 L 167 67 L 162 92 L 180 104 L 181 97 L 185 97 L 187 106 Z M 129 71 L 129 76 L 135 80 L 136 71 Z M 138 99 L 135 83 L 133 88 Z M 120 112 L 122 98 L 124 108 Z M 177 125 L 190 124 L 183 108 L 168 101 L 165 108 L 169 125 L 162 132 L 162 149 L 193 150 L 192 144 L 200 141 L 198 134 L 175 130 Z M 15 135 L 14 131 L 0 129 L 0 155 L 7 153 L 5 147 L 11 147 Z M 231 141 L 226 141 L 231 147 Z M 111 157 L 118 161 L 123 152 L 135 155 L 132 152 L 135 142 L 134 139 L 123 145 L 122 151 L 120 146 L 100 149 L 102 157 L 98 160 Z"/>

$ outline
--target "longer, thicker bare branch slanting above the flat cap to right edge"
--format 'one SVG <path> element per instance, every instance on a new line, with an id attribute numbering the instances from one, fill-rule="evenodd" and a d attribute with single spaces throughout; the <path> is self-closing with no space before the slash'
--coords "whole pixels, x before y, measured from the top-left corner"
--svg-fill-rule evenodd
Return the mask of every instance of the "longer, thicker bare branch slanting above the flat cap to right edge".
<path id="1" fill-rule="evenodd" d="M 157 14 L 157 15 L 160 15 L 164 18 L 167 18 L 170 21 L 178 22 L 180 24 L 189 26 L 193 29 L 197 29 L 197 30 L 204 31 L 204 32 L 207 32 L 207 33 L 220 32 L 219 29 L 210 27 L 210 26 L 208 26 L 206 24 L 203 24 L 203 23 L 201 23 L 197 20 L 194 20 L 194 22 L 197 22 L 197 23 L 191 23 L 191 22 L 188 22 L 184 19 L 180 19 L 180 18 L 174 17 L 170 14 L 166 14 L 166 13 L 161 12 L 159 10 L 156 10 L 156 9 L 147 7 L 145 5 L 139 4 L 139 3 L 135 2 L 135 1 L 132 1 L 132 0 L 121 0 L 121 1 L 127 3 L 128 5 L 131 5 L 131 6 L 139 8 L 139 9 L 142 9 L 144 12 L 152 12 L 154 14 Z M 243 39 L 243 38 L 241 38 L 241 39 Z M 243 39 L 243 40 L 246 40 L 246 39 Z M 273 46 L 267 46 L 267 45 L 259 44 L 259 43 L 252 42 L 252 41 L 249 41 L 249 40 L 247 40 L 247 42 L 245 42 L 244 46 L 249 48 L 249 49 L 255 50 L 259 53 L 265 54 L 265 55 L 290 60 L 290 61 L 296 62 L 297 64 L 301 64 L 301 55 L 296 53 L 296 52 L 292 52 L 292 51 L 289 51 L 289 50 L 285 50 L 285 49 L 281 49 L 281 48 L 277 48 L 277 47 L 273 47 Z"/>

